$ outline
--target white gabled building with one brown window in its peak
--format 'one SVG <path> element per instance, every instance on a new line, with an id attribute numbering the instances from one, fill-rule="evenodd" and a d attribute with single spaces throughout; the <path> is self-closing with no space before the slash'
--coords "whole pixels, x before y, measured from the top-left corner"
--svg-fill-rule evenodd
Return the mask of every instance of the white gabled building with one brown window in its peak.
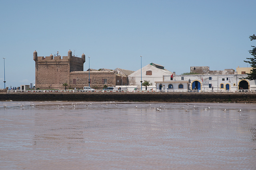
<path id="1" fill-rule="evenodd" d="M 137 86 L 138 89 L 141 88 L 141 82 L 144 80 L 150 81 L 153 86 L 149 86 L 148 89 L 156 87 L 156 81 L 163 81 L 163 76 L 171 76 L 172 72 L 164 69 L 164 66 L 159 64 L 150 63 L 142 69 L 139 69 L 128 76 L 129 85 Z M 142 90 L 145 90 L 145 86 L 142 86 Z M 154 89 L 155 90 L 155 89 Z"/>

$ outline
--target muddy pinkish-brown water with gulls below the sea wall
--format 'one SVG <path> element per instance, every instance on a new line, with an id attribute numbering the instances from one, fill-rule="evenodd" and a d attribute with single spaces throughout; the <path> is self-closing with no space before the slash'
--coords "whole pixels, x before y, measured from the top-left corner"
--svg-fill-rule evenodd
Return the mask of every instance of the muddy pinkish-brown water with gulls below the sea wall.
<path id="1" fill-rule="evenodd" d="M 255 104 L 74 104 L 0 102 L 0 169 L 256 168 Z"/>

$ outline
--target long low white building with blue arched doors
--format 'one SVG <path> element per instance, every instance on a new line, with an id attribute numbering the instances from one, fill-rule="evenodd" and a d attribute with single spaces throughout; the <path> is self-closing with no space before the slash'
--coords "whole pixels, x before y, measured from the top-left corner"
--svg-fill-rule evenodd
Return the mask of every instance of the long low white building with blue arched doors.
<path id="1" fill-rule="evenodd" d="M 247 74 L 190 74 L 163 76 L 162 81 L 156 81 L 156 90 L 256 90 L 256 80 L 247 80 Z"/>

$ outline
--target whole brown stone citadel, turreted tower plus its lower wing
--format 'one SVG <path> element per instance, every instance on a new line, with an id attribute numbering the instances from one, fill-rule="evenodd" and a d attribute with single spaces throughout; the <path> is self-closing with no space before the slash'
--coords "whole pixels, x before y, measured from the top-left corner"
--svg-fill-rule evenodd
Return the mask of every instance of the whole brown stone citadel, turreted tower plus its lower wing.
<path id="1" fill-rule="evenodd" d="M 133 71 L 116 68 L 115 70 L 102 69 L 84 71 L 85 54 L 82 57 L 72 56 L 72 51 L 68 51 L 68 56 L 38 57 L 34 51 L 35 61 L 35 82 L 36 88 L 56 88 L 64 89 L 64 83 L 70 88 L 82 88 L 90 86 L 93 88 L 103 88 L 106 86 L 118 86 L 128 84 L 128 75 Z"/>

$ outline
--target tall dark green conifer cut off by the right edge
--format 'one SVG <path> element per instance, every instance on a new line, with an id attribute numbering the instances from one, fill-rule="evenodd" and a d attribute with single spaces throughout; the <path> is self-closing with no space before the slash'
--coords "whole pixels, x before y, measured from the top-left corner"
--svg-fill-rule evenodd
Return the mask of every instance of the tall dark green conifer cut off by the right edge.
<path id="1" fill-rule="evenodd" d="M 255 35 L 252 35 L 252 36 L 249 36 L 250 40 L 255 40 L 256 39 L 256 36 Z M 249 50 L 249 53 L 253 56 L 251 58 L 246 58 L 250 61 L 244 61 L 246 63 L 249 63 L 251 64 L 251 67 L 252 67 L 252 70 L 250 73 L 246 73 L 248 74 L 248 76 L 245 78 L 245 79 L 248 79 L 248 80 L 256 80 L 256 47 L 255 46 L 252 46 L 252 50 Z"/>

